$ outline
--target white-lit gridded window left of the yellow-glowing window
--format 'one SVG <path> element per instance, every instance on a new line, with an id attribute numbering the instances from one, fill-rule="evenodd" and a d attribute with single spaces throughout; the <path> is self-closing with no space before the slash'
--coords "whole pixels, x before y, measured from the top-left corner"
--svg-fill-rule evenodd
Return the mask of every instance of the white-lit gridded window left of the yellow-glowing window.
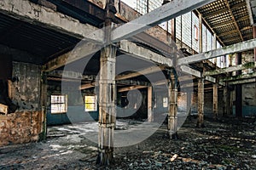
<path id="1" fill-rule="evenodd" d="M 66 113 L 67 112 L 67 95 L 55 94 L 50 96 L 50 111 L 51 113 Z"/>

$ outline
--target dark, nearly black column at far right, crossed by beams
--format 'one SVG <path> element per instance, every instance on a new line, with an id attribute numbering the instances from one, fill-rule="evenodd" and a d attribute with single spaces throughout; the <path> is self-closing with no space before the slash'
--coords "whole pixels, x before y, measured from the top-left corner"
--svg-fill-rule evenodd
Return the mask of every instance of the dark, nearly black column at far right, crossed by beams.
<path id="1" fill-rule="evenodd" d="M 241 53 L 236 54 L 236 65 L 241 65 Z M 236 75 L 241 75 L 241 71 L 237 71 Z M 241 84 L 236 85 L 236 116 L 242 116 L 242 92 Z"/>

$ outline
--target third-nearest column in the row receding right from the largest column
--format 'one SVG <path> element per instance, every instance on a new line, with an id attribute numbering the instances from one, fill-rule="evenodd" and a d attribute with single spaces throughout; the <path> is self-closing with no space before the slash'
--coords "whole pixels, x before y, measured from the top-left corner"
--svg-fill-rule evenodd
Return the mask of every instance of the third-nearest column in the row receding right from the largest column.
<path id="1" fill-rule="evenodd" d="M 198 80 L 198 118 L 197 127 L 204 127 L 204 79 Z"/>

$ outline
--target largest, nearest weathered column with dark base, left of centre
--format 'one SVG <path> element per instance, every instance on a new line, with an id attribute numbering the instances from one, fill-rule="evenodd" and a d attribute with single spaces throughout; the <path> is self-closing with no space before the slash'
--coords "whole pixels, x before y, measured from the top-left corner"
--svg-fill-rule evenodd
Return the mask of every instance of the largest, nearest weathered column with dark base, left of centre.
<path id="1" fill-rule="evenodd" d="M 99 155 L 96 164 L 106 166 L 113 163 L 113 129 L 116 122 L 115 85 L 116 47 L 102 48 L 99 80 Z"/>

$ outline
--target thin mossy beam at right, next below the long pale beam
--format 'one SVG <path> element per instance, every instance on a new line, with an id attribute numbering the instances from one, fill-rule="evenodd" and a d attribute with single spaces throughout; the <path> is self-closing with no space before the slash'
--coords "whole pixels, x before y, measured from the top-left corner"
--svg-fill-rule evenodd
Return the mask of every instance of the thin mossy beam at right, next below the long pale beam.
<path id="1" fill-rule="evenodd" d="M 236 66 L 230 66 L 223 69 L 217 69 L 214 71 L 206 71 L 206 76 L 214 76 L 219 74 L 224 74 L 232 71 L 241 71 L 246 69 L 253 69 L 256 68 L 256 62 L 249 62 L 243 65 L 236 65 Z"/>

